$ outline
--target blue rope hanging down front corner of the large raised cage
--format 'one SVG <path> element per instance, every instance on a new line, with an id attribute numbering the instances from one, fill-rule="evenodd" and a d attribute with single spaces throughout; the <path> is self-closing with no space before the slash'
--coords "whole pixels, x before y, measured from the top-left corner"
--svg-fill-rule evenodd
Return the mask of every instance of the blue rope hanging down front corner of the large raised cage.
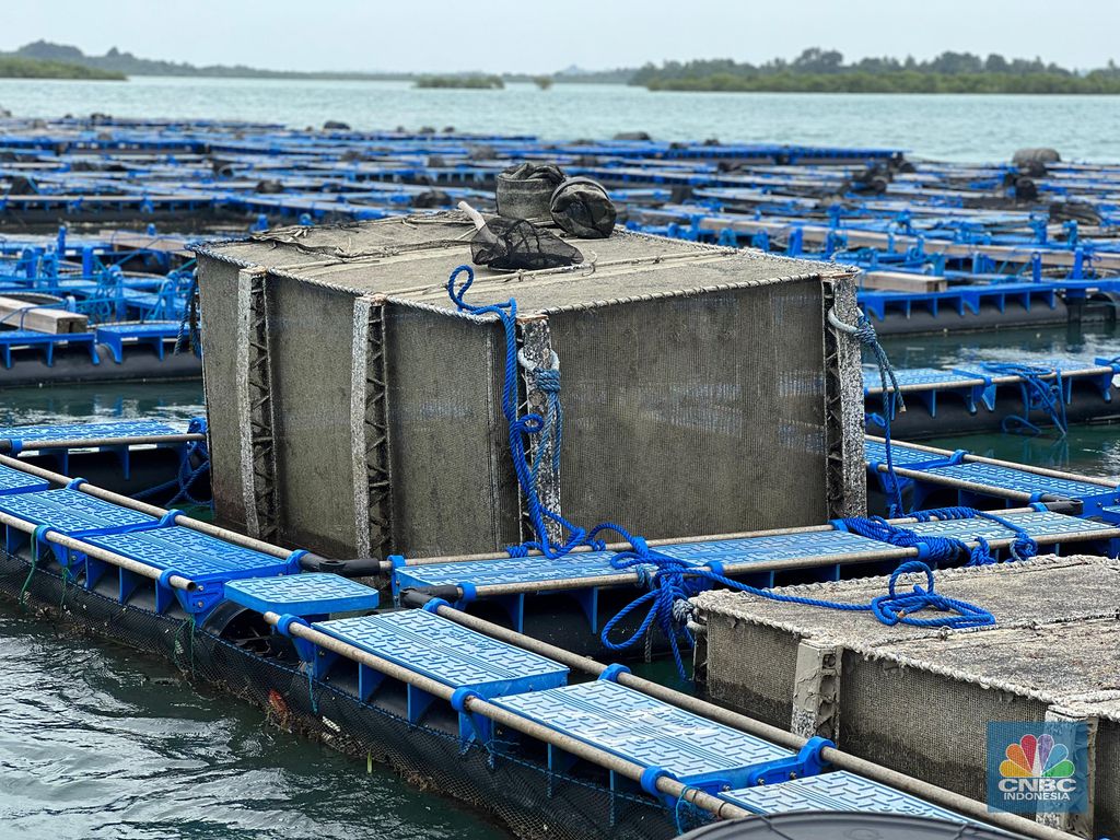
<path id="1" fill-rule="evenodd" d="M 457 287 L 456 280 L 459 274 L 466 274 L 466 281 Z M 536 493 L 536 476 L 540 473 L 541 463 L 544 458 L 550 458 L 553 469 L 560 466 L 560 444 L 563 439 L 563 412 L 560 409 L 560 373 L 559 371 L 535 370 L 534 380 L 536 384 L 543 384 L 548 409 L 542 418 L 535 412 L 519 416 L 517 412 L 517 301 L 513 298 L 504 304 L 491 304 L 487 306 L 474 306 L 464 300 L 464 296 L 475 281 L 475 272 L 469 265 L 459 265 L 447 279 L 447 293 L 455 305 L 470 315 L 497 316 L 505 330 L 505 382 L 502 388 L 502 413 L 505 416 L 510 433 L 510 456 L 513 459 L 513 469 L 517 476 L 517 484 L 525 500 L 529 511 L 529 521 L 533 528 L 535 540 L 530 540 L 521 545 L 510 548 L 511 556 L 523 557 L 530 549 L 536 549 L 550 560 L 563 557 L 577 545 L 586 544 L 587 531 L 573 525 L 556 511 L 550 510 Z M 541 374 L 544 374 L 541 379 Z M 526 454 L 526 441 L 533 436 L 541 436 L 541 445 L 536 449 L 536 456 L 530 463 Z M 561 543 L 553 542 L 548 534 L 547 522 L 559 525 L 564 532 L 570 534 Z"/>

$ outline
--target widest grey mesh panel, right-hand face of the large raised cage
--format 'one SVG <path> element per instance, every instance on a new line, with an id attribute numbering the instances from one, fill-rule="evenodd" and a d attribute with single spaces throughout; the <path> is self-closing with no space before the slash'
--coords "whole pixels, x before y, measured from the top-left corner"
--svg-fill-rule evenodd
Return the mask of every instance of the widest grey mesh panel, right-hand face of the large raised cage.
<path id="1" fill-rule="evenodd" d="M 819 281 L 550 316 L 575 522 L 647 538 L 828 517 Z"/>

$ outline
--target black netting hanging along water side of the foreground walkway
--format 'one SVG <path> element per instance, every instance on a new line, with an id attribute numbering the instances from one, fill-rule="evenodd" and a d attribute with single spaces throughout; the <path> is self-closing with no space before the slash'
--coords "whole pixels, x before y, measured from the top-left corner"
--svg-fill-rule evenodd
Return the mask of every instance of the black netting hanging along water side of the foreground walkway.
<path id="1" fill-rule="evenodd" d="M 198 627 L 183 614 L 124 608 L 100 591 L 64 582 L 57 567 L 29 571 L 26 559 L 0 552 L 0 596 L 22 592 L 25 608 L 45 618 L 166 656 L 187 678 L 261 708 L 281 728 L 388 764 L 433 797 L 472 805 L 517 837 L 660 839 L 706 819 L 688 803 L 665 808 L 636 790 L 612 791 L 606 773 L 587 765 L 550 772 L 541 745 L 519 741 L 515 734 L 497 730 L 486 745 L 464 747 L 450 709 L 411 724 L 403 692 L 383 689 L 377 704 L 362 702 L 355 674 L 345 669 L 310 681 L 290 643 L 255 614 L 215 613 Z"/>

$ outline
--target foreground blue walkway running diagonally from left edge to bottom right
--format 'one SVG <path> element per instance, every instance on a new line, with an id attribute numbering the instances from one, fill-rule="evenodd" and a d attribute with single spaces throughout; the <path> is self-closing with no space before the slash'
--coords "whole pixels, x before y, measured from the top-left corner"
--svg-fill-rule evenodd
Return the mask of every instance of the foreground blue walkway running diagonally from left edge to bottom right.
<path id="1" fill-rule="evenodd" d="M 0 456 L 7 591 L 56 609 L 69 605 L 94 626 L 113 613 L 102 626 L 118 637 L 176 661 L 186 656 L 196 676 L 240 685 L 281 718 L 298 715 L 355 739 L 363 752 L 388 752 L 399 768 L 419 769 L 522 829 L 548 822 L 559 827 L 558 837 L 668 838 L 682 806 L 708 819 L 823 806 L 959 823 L 979 818 L 1064 837 L 884 772 L 907 791 L 892 788 L 853 772 L 874 765 L 823 738 L 806 740 L 625 668 L 511 635 L 439 599 L 368 615 L 380 606 L 376 590 L 301 573 L 321 558 L 82 479 L 56 487 L 58 478 Z M 1089 533 L 1088 523 L 1045 511 L 1008 515 L 1038 539 Z M 832 533 L 844 543 L 856 539 Z M 1099 525 L 1092 533 L 1113 538 L 1120 529 Z M 692 543 L 698 558 L 713 544 Z M 254 625 L 276 635 L 260 635 Z M 486 628 L 492 633 L 479 632 Z"/>

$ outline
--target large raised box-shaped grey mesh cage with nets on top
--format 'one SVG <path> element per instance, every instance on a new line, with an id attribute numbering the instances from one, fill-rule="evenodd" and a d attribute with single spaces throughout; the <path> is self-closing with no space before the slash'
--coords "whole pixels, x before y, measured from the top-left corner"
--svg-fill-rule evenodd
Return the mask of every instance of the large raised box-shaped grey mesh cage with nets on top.
<path id="1" fill-rule="evenodd" d="M 457 310 L 457 213 L 284 228 L 198 252 L 216 514 L 334 556 L 521 543 L 502 413 L 501 323 Z M 560 271 L 479 271 L 517 301 L 529 368 L 562 373 L 559 478 L 572 522 L 648 538 L 862 513 L 859 348 L 844 269 L 618 232 Z"/>

